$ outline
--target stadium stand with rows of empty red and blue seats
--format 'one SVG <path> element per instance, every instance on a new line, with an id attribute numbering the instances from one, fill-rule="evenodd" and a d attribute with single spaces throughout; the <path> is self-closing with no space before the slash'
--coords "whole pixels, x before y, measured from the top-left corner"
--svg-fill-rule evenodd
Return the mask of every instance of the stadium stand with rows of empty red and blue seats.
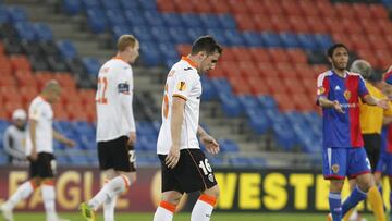
<path id="1" fill-rule="evenodd" d="M 208 101 L 203 105 L 204 123 L 223 151 L 217 164 L 265 167 L 273 160 L 271 151 L 281 154 L 274 165 L 285 156 L 317 156 L 321 119 L 314 101 L 316 76 L 328 70 L 324 50 L 332 42 L 346 44 L 352 59 L 367 59 L 378 71 L 392 60 L 391 0 L 4 2 L 1 122 L 8 123 L 14 108 L 26 108 L 47 79 L 58 79 L 66 96 L 54 107 L 56 127 L 77 140 L 73 151 L 57 144 L 60 163 L 97 163 L 95 77 L 101 62 L 113 56 L 114 39 L 125 33 L 140 40 L 134 106 L 142 165 L 157 163 L 154 144 L 167 69 L 188 53 L 200 35 L 212 35 L 224 46 L 218 67 L 201 78 L 203 99 Z"/>

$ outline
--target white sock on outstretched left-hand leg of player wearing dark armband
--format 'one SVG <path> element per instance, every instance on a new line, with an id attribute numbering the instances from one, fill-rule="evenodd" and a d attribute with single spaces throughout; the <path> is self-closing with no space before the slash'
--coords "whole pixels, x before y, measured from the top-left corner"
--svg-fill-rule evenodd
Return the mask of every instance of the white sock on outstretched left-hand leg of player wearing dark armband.
<path id="1" fill-rule="evenodd" d="M 121 193 L 123 193 L 130 186 L 130 180 L 125 175 L 119 175 L 109 183 L 107 183 L 93 199 L 88 201 L 88 205 L 93 207 L 94 210 L 97 210 L 103 201 L 108 198 L 112 198 Z"/>

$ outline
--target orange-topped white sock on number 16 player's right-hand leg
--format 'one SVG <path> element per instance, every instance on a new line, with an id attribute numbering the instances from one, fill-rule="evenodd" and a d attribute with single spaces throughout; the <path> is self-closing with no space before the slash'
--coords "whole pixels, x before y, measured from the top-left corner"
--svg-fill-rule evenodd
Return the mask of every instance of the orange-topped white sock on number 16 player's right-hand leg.
<path id="1" fill-rule="evenodd" d="M 191 221 L 209 221 L 216 201 L 215 197 L 201 194 L 192 210 Z"/>

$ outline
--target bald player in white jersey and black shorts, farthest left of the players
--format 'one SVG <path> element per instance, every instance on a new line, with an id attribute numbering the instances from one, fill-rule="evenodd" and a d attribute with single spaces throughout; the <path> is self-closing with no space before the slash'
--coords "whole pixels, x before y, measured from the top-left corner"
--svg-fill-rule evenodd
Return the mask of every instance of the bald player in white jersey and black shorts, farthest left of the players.
<path id="1" fill-rule="evenodd" d="M 42 93 L 33 99 L 28 109 L 28 133 L 26 156 L 29 160 L 30 179 L 23 183 L 16 192 L 1 205 L 2 216 L 13 221 L 12 210 L 16 204 L 27 198 L 34 189 L 41 186 L 47 221 L 64 221 L 56 212 L 53 138 L 73 147 L 75 143 L 68 139 L 52 127 L 53 111 L 51 105 L 60 98 L 61 87 L 58 82 L 49 81 Z"/>

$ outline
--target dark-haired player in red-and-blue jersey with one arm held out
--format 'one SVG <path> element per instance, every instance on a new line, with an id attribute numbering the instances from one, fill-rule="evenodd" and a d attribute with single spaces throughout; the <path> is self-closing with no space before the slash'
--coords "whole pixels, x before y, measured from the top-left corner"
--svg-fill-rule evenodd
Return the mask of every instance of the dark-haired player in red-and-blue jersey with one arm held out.
<path id="1" fill-rule="evenodd" d="M 359 99 L 370 106 L 388 109 L 388 101 L 373 98 L 359 74 L 350 73 L 348 49 L 335 44 L 328 49 L 332 69 L 318 76 L 317 103 L 323 114 L 322 173 L 330 180 L 328 220 L 341 221 L 343 216 L 367 196 L 371 187 L 370 163 L 364 149 L 359 125 Z M 342 205 L 341 192 L 345 176 L 356 179 L 357 186 Z"/>

